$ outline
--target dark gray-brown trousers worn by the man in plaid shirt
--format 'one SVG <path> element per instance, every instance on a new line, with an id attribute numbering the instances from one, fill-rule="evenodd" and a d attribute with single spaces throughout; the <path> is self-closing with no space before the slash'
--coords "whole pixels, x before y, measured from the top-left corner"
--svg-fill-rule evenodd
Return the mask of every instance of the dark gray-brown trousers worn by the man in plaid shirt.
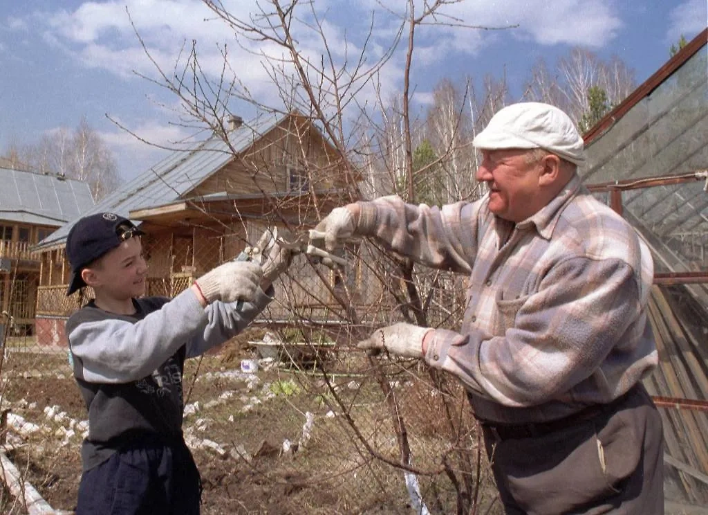
<path id="1" fill-rule="evenodd" d="M 560 426 L 504 438 L 483 424 L 507 514 L 663 515 L 661 415 L 642 385 L 608 412 Z"/>

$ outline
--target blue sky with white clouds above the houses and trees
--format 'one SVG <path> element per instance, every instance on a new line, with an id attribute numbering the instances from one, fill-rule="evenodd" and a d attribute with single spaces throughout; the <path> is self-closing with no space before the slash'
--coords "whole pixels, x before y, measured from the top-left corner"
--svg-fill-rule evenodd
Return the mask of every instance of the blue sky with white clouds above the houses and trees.
<path id="1" fill-rule="evenodd" d="M 269 1 L 222 3 L 236 18 L 248 19 Z M 414 5 L 420 12 L 423 2 Z M 389 47 L 405 7 L 404 0 L 301 0 L 294 23 L 298 43 L 316 60 L 329 50 L 337 62 L 352 62 L 371 32 L 366 53 L 372 62 Z M 306 30 L 313 9 L 327 49 Z M 510 93 L 519 96 L 539 58 L 552 65 L 578 45 L 603 59 L 619 57 L 641 84 L 668 60 L 680 35 L 691 40 L 707 26 L 708 0 L 463 0 L 440 13 L 443 26 L 416 33 L 411 79 L 419 112 L 445 77 L 506 76 Z M 234 30 L 200 0 L 0 0 L 0 155 L 9 145 L 76 128 L 86 117 L 113 152 L 122 179 L 132 179 L 169 152 L 155 145 L 173 147 L 199 137 L 179 125 L 178 99 L 154 81 L 156 66 L 170 74 L 192 41 L 207 74 L 219 76 L 219 48 L 226 44 L 229 67 L 241 84 L 258 101 L 277 103 L 258 52 L 278 56 L 280 50 L 244 38 L 236 42 Z M 382 96 L 401 91 L 404 60 L 401 45 L 379 73 Z M 372 95 L 360 92 L 364 99 Z M 245 103 L 234 101 L 229 108 L 249 115 Z"/>

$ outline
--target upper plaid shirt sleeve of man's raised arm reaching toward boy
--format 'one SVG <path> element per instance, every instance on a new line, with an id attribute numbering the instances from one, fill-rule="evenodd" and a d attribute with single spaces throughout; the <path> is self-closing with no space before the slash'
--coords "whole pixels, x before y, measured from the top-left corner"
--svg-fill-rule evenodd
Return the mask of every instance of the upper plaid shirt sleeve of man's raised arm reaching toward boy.
<path id="1" fill-rule="evenodd" d="M 481 202 L 442 208 L 404 203 L 397 196 L 360 202 L 356 233 L 441 270 L 470 273 L 476 257 Z"/>

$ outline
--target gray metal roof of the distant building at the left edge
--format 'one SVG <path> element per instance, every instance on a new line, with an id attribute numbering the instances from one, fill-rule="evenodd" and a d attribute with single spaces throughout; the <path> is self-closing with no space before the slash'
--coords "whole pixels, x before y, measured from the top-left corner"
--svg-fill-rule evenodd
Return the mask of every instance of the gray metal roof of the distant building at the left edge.
<path id="1" fill-rule="evenodd" d="M 93 208 L 83 181 L 0 168 L 0 184 L 0 220 L 59 227 Z"/>

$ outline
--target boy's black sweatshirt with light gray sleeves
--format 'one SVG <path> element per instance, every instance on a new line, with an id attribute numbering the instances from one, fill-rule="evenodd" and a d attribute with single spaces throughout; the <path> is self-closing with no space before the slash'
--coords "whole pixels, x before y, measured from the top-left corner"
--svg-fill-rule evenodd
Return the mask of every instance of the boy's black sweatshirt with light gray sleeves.
<path id="1" fill-rule="evenodd" d="M 69 317 L 74 377 L 89 411 L 81 448 L 84 470 L 141 438 L 182 441 L 185 358 L 199 356 L 241 332 L 272 300 L 212 302 L 190 291 L 173 300 L 134 299 L 134 315 L 116 315 L 93 301 Z"/>

